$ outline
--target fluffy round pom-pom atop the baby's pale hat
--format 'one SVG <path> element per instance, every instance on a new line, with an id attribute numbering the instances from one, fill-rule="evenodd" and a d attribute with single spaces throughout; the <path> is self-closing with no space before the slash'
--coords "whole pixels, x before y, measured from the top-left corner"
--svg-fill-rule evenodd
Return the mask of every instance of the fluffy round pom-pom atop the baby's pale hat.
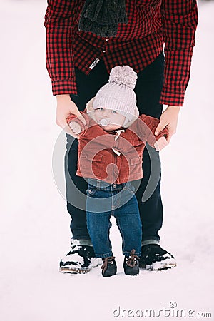
<path id="1" fill-rule="evenodd" d="M 137 73 L 130 66 L 116 66 L 111 69 L 108 82 L 118 83 L 118 85 L 125 85 L 133 89 L 136 86 L 137 78 Z"/>

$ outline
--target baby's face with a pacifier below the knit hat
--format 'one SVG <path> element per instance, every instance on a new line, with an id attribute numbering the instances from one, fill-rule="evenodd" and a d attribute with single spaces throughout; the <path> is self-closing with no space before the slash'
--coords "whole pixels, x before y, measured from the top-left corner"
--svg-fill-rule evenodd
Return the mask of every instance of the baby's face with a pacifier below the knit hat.
<path id="1" fill-rule="evenodd" d="M 121 113 L 105 107 L 95 109 L 94 114 L 96 122 L 103 127 L 105 131 L 116 131 L 116 129 L 123 126 L 126 119 Z"/>

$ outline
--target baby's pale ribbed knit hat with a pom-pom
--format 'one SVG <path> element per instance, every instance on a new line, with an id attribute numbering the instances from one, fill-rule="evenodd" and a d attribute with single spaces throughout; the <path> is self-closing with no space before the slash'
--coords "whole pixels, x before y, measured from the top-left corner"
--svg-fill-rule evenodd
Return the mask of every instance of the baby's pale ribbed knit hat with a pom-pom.
<path id="1" fill-rule="evenodd" d="M 114 67 L 108 83 L 99 89 L 93 100 L 93 109 L 105 107 L 121 113 L 126 117 L 123 126 L 138 118 L 136 94 L 133 91 L 137 78 L 137 73 L 130 66 Z"/>

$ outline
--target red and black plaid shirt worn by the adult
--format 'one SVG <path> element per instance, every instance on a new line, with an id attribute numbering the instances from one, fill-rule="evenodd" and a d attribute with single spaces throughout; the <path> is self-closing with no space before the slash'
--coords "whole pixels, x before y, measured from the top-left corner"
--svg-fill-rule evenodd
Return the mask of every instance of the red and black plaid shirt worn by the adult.
<path id="1" fill-rule="evenodd" d="M 48 0 L 46 66 L 54 95 L 77 93 L 74 66 L 88 74 L 98 58 L 108 72 L 116 65 L 129 65 L 139 72 L 156 59 L 164 44 L 160 103 L 182 106 L 195 45 L 196 1 L 126 0 L 128 24 L 119 24 L 116 36 L 109 38 L 78 31 L 84 2 Z"/>

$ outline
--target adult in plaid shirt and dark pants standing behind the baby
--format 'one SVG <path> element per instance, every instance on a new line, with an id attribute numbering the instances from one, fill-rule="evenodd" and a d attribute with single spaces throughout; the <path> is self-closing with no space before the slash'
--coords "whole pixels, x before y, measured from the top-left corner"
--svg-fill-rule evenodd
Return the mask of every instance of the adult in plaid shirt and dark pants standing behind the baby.
<path id="1" fill-rule="evenodd" d="M 170 141 L 188 85 L 198 21 L 195 0 L 49 0 L 48 4 L 46 66 L 57 98 L 56 123 L 71 133 L 66 118 L 71 113 L 80 115 L 79 110 L 108 82 L 113 66 L 129 65 L 138 73 L 140 113 L 161 117 L 157 133 L 167 127 Z M 162 113 L 163 104 L 168 108 Z M 67 141 L 66 196 L 73 238 L 60 265 L 62 272 L 88 272 L 98 261 L 79 193 L 86 192 L 86 182 L 75 175 L 78 142 L 69 135 Z M 173 255 L 158 244 L 163 223 L 161 164 L 158 153 L 149 147 L 143 158 L 144 178 L 136 193 L 143 225 L 141 267 L 161 270 L 175 266 Z M 159 179 L 143 199 L 150 176 Z"/>

